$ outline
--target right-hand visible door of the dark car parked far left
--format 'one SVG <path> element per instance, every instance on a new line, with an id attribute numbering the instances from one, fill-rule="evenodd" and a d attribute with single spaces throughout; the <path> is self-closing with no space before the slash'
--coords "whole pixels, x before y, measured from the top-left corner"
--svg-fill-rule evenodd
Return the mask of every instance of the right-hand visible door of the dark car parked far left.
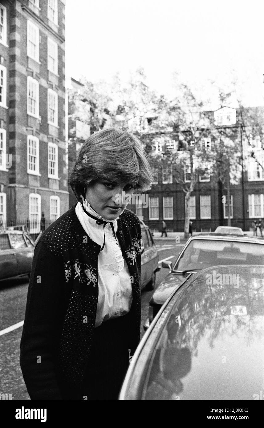
<path id="1" fill-rule="evenodd" d="M 18 259 L 18 272 L 17 275 L 29 273 L 32 264 L 34 247 L 28 247 L 23 233 L 10 233 L 10 242 L 15 248 Z"/>

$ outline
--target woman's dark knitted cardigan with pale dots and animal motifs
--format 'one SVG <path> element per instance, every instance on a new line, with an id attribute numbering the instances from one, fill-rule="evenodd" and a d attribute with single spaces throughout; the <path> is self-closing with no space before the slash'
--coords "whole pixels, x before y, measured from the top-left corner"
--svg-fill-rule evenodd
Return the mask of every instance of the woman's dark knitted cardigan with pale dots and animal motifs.
<path id="1" fill-rule="evenodd" d="M 91 349 L 101 247 L 81 226 L 76 205 L 45 230 L 35 247 L 20 364 L 30 397 L 36 400 L 61 399 L 58 379 L 80 384 Z M 128 348 L 133 354 L 140 338 L 141 227 L 139 218 L 128 209 L 117 224 L 122 255 L 133 278 L 128 315 Z"/>

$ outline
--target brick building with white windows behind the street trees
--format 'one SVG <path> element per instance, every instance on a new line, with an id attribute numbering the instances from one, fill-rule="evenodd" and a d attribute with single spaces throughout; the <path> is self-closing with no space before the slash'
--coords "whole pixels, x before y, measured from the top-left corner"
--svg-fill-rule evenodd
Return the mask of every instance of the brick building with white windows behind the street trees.
<path id="1" fill-rule="evenodd" d="M 219 116 L 225 115 L 227 113 L 225 109 L 226 107 L 217 112 L 217 114 Z M 246 110 L 252 110 L 247 112 L 251 116 L 264 115 L 263 107 Z M 231 114 L 234 114 L 234 122 L 236 123 L 234 131 L 239 135 L 239 112 L 234 110 Z M 232 127 L 232 125 L 228 126 Z M 264 218 L 264 150 L 261 147 L 260 139 L 253 141 L 252 146 L 254 147 L 255 157 L 251 157 L 252 148 L 249 146 L 245 135 L 246 133 L 249 135 L 249 130 L 250 128 L 247 129 L 246 124 L 245 128 L 243 128 L 243 143 L 241 145 L 241 150 L 243 147 L 243 174 L 239 177 L 238 184 L 230 185 L 231 225 L 241 227 L 243 230 L 249 230 L 253 220 Z M 147 134 L 148 130 L 144 129 L 145 137 Z M 152 141 L 153 150 L 161 151 L 160 138 L 165 141 L 167 149 L 175 149 L 175 147 L 179 149 L 177 135 L 173 134 L 173 132 L 157 133 L 150 130 L 149 140 Z M 207 149 L 210 150 L 212 143 L 210 135 L 203 140 Z M 185 218 L 184 192 L 175 181 L 172 170 L 153 169 L 153 172 L 157 179 L 152 183 L 151 190 L 148 191 L 148 204 L 145 203 L 145 207 L 144 203 L 131 205 L 131 209 L 154 231 L 161 231 L 162 220 L 165 220 L 167 230 L 183 232 Z M 184 181 L 188 180 L 188 171 L 183 172 L 182 179 Z M 222 199 L 222 196 L 226 196 L 226 194 L 223 184 L 220 181 L 216 183 L 211 180 L 210 169 L 205 169 L 205 173 L 199 177 L 190 199 L 193 230 L 197 232 L 214 231 L 217 226 L 227 225 L 228 208 Z M 146 196 L 142 199 L 145 202 L 147 201 Z"/>

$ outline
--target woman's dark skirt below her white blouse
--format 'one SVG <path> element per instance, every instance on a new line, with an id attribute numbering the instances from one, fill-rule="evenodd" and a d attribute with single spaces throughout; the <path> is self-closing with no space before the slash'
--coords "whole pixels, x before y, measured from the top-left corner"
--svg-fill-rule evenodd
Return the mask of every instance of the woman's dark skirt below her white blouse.
<path id="1" fill-rule="evenodd" d="M 117 400 L 129 365 L 128 315 L 96 327 L 83 384 L 62 386 L 64 400 Z"/>

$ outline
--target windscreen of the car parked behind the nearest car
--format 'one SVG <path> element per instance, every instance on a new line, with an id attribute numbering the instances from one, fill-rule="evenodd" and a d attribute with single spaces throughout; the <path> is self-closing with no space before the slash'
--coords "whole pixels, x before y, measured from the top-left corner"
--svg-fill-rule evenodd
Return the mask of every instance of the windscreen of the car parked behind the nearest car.
<path id="1" fill-rule="evenodd" d="M 217 265 L 264 265 L 264 245 L 197 239 L 190 242 L 173 270 L 201 270 Z"/>

